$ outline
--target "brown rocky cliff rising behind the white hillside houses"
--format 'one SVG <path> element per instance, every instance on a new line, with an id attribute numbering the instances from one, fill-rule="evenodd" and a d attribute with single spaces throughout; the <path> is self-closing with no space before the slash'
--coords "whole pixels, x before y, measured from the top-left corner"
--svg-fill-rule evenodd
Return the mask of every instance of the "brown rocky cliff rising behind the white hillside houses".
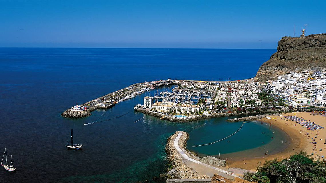
<path id="1" fill-rule="evenodd" d="M 289 71 L 301 71 L 311 67 L 326 70 L 326 33 L 305 37 L 282 37 L 277 52 L 263 63 L 257 74 L 259 82 L 275 79 Z"/>

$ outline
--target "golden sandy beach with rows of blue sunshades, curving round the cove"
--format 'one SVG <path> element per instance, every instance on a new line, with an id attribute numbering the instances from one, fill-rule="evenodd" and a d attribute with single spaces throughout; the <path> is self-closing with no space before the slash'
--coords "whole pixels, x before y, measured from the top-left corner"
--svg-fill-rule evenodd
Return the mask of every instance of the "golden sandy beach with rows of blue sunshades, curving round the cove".
<path id="1" fill-rule="evenodd" d="M 326 117 L 320 115 L 311 115 L 310 112 L 293 112 L 282 114 L 283 116 L 297 116 L 305 120 L 310 120 L 315 122 L 322 127 L 326 127 Z M 254 159 L 245 159 L 243 161 L 227 161 L 229 167 L 244 168 L 248 170 L 255 170 L 259 162 L 264 163 L 265 160 L 271 160 L 274 158 L 284 159 L 295 154 L 296 152 L 305 151 L 307 154 L 314 153 L 312 157 L 316 158 L 318 155 L 326 156 L 326 129 L 322 128 L 319 130 L 308 130 L 306 127 L 303 127 L 300 124 L 295 123 L 289 119 L 284 118 L 283 116 L 278 115 L 268 115 L 272 119 L 262 118 L 260 121 L 271 123 L 272 125 L 283 130 L 290 137 L 290 143 L 288 147 L 277 154 L 266 155 L 264 158 L 257 157 Z M 288 120 L 288 121 L 286 121 Z M 308 133 L 309 135 L 305 135 Z M 317 138 L 314 138 L 317 135 Z M 313 141 L 314 138 L 315 140 Z M 313 144 L 312 142 L 317 142 Z M 322 151 L 319 151 L 321 149 Z"/>

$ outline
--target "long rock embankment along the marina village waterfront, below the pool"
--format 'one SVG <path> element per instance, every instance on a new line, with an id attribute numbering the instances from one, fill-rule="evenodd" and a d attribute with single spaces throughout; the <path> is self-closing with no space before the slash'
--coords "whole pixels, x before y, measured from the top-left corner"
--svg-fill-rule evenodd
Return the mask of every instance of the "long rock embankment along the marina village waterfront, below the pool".
<path id="1" fill-rule="evenodd" d="M 144 109 L 139 109 L 137 111 L 140 111 L 144 114 L 148 114 L 151 116 L 155 116 L 158 118 L 163 117 L 163 114 L 144 110 Z M 216 117 L 223 117 L 223 116 L 234 116 L 234 115 L 242 115 L 242 114 L 278 114 L 278 113 L 286 113 L 286 112 L 293 112 L 292 110 L 282 110 L 282 111 L 259 111 L 259 112 L 243 112 L 243 113 L 228 113 L 228 112 L 222 112 L 222 113 L 215 113 L 215 114 L 205 114 L 205 115 L 199 115 L 199 116 L 194 116 L 194 117 L 189 117 L 189 118 L 174 118 L 171 116 L 166 116 L 164 117 L 165 120 L 171 121 L 171 122 L 180 122 L 180 123 L 185 123 L 185 122 L 190 122 L 190 121 L 196 121 L 200 119 L 207 119 L 207 118 L 216 118 Z M 243 120 L 244 121 L 244 120 Z"/>

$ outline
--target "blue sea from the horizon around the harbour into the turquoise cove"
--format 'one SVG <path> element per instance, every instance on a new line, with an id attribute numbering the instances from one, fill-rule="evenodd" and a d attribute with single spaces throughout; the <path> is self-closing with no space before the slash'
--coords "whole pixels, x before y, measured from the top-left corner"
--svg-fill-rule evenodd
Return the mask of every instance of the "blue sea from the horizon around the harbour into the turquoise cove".
<path id="1" fill-rule="evenodd" d="M 227 117 L 190 123 L 144 117 L 133 107 L 149 93 L 96 110 L 87 118 L 60 116 L 76 102 L 82 104 L 133 83 L 251 78 L 275 51 L 0 48 L 0 153 L 6 147 L 17 167 L 16 173 L 1 167 L 0 182 L 154 182 L 152 178 L 166 168 L 167 138 L 179 130 L 189 132 L 188 148 L 202 155 L 221 152 L 223 158 L 223 154 L 257 148 L 262 140 L 277 145 L 277 137 L 274 141 L 261 137 L 260 132 L 269 130 L 266 125 L 248 123 L 229 142 L 191 148 L 227 137 L 241 123 L 227 123 Z M 160 88 L 166 89 L 171 88 Z M 95 121 L 99 122 L 83 125 Z M 65 148 L 71 128 L 74 142 L 82 143 L 83 150 Z M 259 134 L 252 135 L 255 132 Z M 277 130 L 275 134 L 282 136 Z"/>

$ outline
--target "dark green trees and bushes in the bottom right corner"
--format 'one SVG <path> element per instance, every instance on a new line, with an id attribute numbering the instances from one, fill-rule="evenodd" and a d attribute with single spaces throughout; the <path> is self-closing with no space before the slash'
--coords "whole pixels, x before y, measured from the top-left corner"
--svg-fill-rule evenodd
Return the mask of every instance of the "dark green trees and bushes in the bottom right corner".
<path id="1" fill-rule="evenodd" d="M 326 183 L 326 163 L 301 151 L 289 159 L 265 161 L 256 173 L 244 173 L 244 179 L 259 183 Z"/>

